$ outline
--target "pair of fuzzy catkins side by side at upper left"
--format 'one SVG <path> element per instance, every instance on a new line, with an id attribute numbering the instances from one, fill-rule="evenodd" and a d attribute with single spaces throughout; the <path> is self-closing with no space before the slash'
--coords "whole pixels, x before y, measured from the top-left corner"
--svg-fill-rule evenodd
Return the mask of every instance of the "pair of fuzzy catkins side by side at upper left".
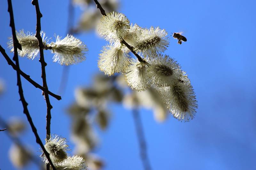
<path id="1" fill-rule="evenodd" d="M 34 59 L 38 56 L 38 40 L 34 34 L 24 30 L 16 32 L 17 39 L 21 45 L 22 50 L 18 49 L 18 54 L 21 57 L 27 56 L 28 59 Z M 58 62 L 61 65 L 71 65 L 80 63 L 86 59 L 85 54 L 88 51 L 86 45 L 75 38 L 73 35 L 67 35 L 64 39 L 59 36 L 56 37 L 55 42 L 48 43 L 50 39 L 47 39 L 44 32 L 41 32 L 44 49 L 49 49 L 54 53 L 53 62 Z M 9 37 L 9 48 L 13 52 L 13 39 Z"/>

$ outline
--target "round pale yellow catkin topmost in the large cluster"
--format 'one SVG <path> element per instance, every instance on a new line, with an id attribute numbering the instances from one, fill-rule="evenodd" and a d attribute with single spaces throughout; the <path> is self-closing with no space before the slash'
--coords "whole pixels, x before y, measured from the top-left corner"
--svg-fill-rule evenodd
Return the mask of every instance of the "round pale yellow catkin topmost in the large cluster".
<path id="1" fill-rule="evenodd" d="M 107 41 L 113 42 L 120 40 L 129 32 L 130 21 L 122 13 L 110 12 L 107 16 L 102 16 L 98 25 L 100 35 L 103 35 Z"/>

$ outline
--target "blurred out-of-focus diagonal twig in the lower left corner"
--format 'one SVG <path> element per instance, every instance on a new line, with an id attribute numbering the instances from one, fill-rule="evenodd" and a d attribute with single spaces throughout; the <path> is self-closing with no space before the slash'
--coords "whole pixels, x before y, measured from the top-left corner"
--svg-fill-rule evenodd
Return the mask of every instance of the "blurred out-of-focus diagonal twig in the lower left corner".
<path id="1" fill-rule="evenodd" d="M 2 124 L 2 126 L 7 127 L 9 129 L 9 125 L 4 121 L 4 119 L 2 119 L 0 117 L 0 124 Z M 1 129 L 0 131 L 2 131 L 3 129 Z M 6 130 L 6 128 L 4 129 Z M 20 139 L 18 137 L 15 137 L 13 135 L 10 134 L 9 130 L 7 130 L 6 135 L 17 145 L 20 147 L 20 149 L 22 150 L 23 154 L 27 154 L 28 158 L 31 159 L 38 167 L 41 167 L 41 160 L 37 159 L 37 157 L 35 155 L 32 155 L 31 153 L 28 153 L 27 150 L 25 149 L 25 145 L 20 141 Z"/>

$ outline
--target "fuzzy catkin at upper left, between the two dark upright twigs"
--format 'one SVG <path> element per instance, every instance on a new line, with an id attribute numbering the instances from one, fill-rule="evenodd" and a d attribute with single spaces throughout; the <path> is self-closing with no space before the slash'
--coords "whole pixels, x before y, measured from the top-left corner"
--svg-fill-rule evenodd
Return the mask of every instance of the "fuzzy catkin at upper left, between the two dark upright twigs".
<path id="1" fill-rule="evenodd" d="M 38 40 L 33 33 L 27 32 L 25 33 L 24 30 L 20 30 L 20 32 L 16 31 L 17 39 L 21 45 L 22 50 L 18 49 L 18 55 L 21 57 L 27 56 L 28 59 L 34 59 L 38 56 L 39 47 L 38 47 Z M 44 45 L 47 43 L 47 37 L 45 33 L 41 31 L 42 41 Z M 13 40 L 12 36 L 9 37 L 8 47 L 11 48 L 11 52 L 13 52 Z"/>

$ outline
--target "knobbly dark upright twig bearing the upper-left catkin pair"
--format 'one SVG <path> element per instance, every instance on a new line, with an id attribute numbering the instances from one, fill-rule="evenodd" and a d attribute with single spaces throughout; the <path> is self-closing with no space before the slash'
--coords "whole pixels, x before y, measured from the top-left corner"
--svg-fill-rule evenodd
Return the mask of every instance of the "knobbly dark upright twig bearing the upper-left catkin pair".
<path id="1" fill-rule="evenodd" d="M 40 31 L 41 31 L 41 18 L 43 17 L 42 13 L 40 12 L 39 9 L 39 4 L 38 4 L 38 0 L 33 0 L 32 4 L 35 6 L 36 8 L 36 38 L 38 40 L 38 47 L 39 47 L 39 51 L 40 51 L 40 59 L 39 62 L 41 63 L 41 68 L 42 68 L 42 75 L 41 78 L 43 79 L 43 87 L 45 89 L 48 89 L 47 86 L 47 82 L 46 82 L 46 73 L 45 73 L 45 66 L 47 65 L 47 63 L 45 63 L 44 61 L 44 44 L 42 41 L 42 37 L 40 35 Z M 44 99 L 46 102 L 46 140 L 49 140 L 51 137 L 51 109 L 52 109 L 52 105 L 50 103 L 50 99 L 49 99 L 49 95 L 47 93 L 42 93 L 44 95 Z M 50 165 L 49 163 L 46 166 L 46 169 L 50 169 Z"/>

